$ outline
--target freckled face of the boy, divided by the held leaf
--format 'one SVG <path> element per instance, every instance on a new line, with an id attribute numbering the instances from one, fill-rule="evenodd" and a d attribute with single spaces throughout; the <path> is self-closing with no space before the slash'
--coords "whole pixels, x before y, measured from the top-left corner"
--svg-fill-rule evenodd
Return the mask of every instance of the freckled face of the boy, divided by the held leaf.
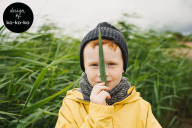
<path id="1" fill-rule="evenodd" d="M 119 47 L 114 51 L 108 48 L 106 44 L 103 45 L 103 53 L 107 87 L 111 90 L 120 83 L 122 73 L 124 72 L 122 53 Z M 87 44 L 84 48 L 83 57 L 85 73 L 87 74 L 89 83 L 92 86 L 101 83 L 99 72 L 99 46 L 97 45 L 93 49 L 90 44 Z"/>

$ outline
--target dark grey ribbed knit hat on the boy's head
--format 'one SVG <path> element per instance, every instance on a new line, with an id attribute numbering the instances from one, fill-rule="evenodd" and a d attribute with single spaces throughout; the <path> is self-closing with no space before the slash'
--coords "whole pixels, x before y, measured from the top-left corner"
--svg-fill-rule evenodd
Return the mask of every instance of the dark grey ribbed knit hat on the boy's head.
<path id="1" fill-rule="evenodd" d="M 99 35 L 99 25 L 100 25 L 100 30 L 101 30 L 101 37 L 102 39 L 108 39 L 115 41 L 115 43 L 120 47 L 122 55 L 123 55 L 123 61 L 124 61 L 124 73 L 126 72 L 127 69 L 127 64 L 128 64 L 128 47 L 127 43 L 121 34 L 121 32 L 112 26 L 111 24 L 107 22 L 102 22 L 99 23 L 95 29 L 91 30 L 81 41 L 80 44 L 80 53 L 79 53 L 79 60 L 80 60 L 80 66 L 83 72 L 85 72 L 84 64 L 83 64 L 83 49 L 85 45 L 92 41 L 98 39 Z"/>

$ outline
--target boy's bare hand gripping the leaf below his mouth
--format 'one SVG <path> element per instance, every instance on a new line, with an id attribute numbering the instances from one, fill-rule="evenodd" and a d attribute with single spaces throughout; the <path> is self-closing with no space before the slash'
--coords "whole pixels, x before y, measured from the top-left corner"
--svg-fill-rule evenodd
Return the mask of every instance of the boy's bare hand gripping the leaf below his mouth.
<path id="1" fill-rule="evenodd" d="M 106 105 L 105 99 L 110 99 L 111 96 L 108 92 L 104 90 L 109 90 L 107 86 L 104 86 L 105 83 L 99 83 L 95 85 L 92 89 L 90 100 L 91 102 L 95 104 L 100 104 L 100 105 Z"/>

